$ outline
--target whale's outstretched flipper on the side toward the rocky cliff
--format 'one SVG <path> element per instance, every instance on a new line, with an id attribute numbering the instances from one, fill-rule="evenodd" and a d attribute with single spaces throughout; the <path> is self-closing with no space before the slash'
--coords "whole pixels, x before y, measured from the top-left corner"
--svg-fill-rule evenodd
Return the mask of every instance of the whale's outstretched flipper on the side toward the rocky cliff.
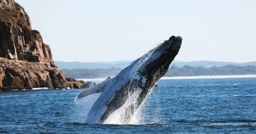
<path id="1" fill-rule="evenodd" d="M 103 89 L 108 85 L 108 83 L 110 82 L 112 78 L 108 77 L 106 80 L 104 80 L 103 82 L 100 82 L 99 84 L 96 84 L 95 86 L 84 90 L 82 93 L 80 93 L 77 96 L 77 99 L 81 99 L 84 98 L 86 96 L 95 94 L 95 93 L 102 93 Z"/>

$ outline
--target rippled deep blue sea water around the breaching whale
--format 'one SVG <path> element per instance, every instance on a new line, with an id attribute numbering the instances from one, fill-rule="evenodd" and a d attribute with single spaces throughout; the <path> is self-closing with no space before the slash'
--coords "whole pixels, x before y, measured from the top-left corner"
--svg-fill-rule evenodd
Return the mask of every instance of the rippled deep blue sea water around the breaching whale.
<path id="1" fill-rule="evenodd" d="M 81 90 L 0 92 L 0 133 L 256 133 L 256 78 L 158 85 L 130 125 L 85 124 Z"/>

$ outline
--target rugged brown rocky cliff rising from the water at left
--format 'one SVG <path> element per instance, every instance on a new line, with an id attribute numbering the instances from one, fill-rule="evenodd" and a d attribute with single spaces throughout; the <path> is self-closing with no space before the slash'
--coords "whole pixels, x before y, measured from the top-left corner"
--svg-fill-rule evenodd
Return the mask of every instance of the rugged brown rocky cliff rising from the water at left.
<path id="1" fill-rule="evenodd" d="M 34 87 L 80 88 L 83 82 L 64 77 L 24 8 L 13 0 L 0 0 L 0 89 Z"/>

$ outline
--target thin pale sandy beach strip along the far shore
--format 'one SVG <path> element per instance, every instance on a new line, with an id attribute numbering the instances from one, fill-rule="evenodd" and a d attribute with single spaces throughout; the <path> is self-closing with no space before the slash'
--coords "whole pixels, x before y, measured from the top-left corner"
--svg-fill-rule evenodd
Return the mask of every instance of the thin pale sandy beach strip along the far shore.
<path id="1" fill-rule="evenodd" d="M 256 78 L 256 75 L 201 75 L 186 77 L 162 77 L 160 80 L 182 80 L 182 79 L 214 79 L 214 78 Z M 85 82 L 102 82 L 106 78 L 79 78 Z"/>

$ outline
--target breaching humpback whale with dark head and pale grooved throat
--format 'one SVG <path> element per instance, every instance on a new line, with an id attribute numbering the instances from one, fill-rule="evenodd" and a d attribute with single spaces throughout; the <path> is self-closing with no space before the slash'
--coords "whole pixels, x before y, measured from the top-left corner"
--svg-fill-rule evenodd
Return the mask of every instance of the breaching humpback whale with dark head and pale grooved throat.
<path id="1" fill-rule="evenodd" d="M 81 93 L 80 98 L 102 92 L 87 115 L 88 124 L 127 124 L 156 82 L 168 71 L 177 56 L 182 38 L 172 36 L 147 54 L 133 61 L 118 75 L 98 88 Z M 93 91 L 95 90 L 95 91 Z M 113 123 L 113 124 L 114 124 Z"/>

